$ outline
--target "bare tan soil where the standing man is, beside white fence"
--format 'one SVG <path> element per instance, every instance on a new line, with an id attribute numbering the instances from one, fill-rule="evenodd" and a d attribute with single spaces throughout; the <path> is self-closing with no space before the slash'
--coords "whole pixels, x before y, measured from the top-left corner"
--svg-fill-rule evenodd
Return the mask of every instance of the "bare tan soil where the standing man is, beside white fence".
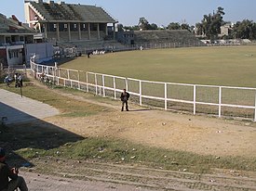
<path id="1" fill-rule="evenodd" d="M 92 102 L 81 96 L 65 96 Z M 253 122 L 192 116 L 135 105 L 130 105 L 130 111 L 121 112 L 118 102 L 94 104 L 114 109 L 85 118 L 52 117 L 47 121 L 86 137 L 113 136 L 202 155 L 255 157 L 256 124 Z"/>

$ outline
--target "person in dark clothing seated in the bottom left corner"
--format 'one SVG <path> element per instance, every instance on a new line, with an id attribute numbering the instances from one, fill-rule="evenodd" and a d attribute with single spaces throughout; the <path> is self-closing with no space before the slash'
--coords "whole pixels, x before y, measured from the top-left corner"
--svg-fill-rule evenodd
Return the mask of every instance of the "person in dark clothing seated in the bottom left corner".
<path id="1" fill-rule="evenodd" d="M 28 191 L 28 187 L 16 168 L 10 169 L 6 163 L 6 152 L 0 147 L 0 191 Z M 10 179 L 10 181 L 9 181 Z"/>

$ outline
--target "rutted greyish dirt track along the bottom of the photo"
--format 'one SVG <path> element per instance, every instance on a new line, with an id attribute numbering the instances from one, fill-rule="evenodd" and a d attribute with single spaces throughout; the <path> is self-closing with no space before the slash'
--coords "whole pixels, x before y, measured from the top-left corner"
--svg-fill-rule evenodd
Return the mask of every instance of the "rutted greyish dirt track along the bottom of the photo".
<path id="1" fill-rule="evenodd" d="M 31 190 L 256 190 L 256 176 L 238 172 L 208 175 L 93 162 L 57 165 L 63 168 L 47 167 L 56 169 L 54 176 L 23 173 Z"/>

